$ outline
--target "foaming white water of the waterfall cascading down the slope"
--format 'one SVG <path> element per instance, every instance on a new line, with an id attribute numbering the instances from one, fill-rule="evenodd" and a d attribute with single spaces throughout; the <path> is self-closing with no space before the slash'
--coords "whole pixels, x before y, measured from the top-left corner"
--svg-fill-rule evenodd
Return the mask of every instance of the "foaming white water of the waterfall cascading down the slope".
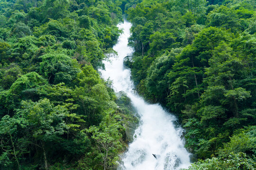
<path id="1" fill-rule="evenodd" d="M 119 24 L 124 33 L 114 46 L 118 57 L 105 61 L 102 77 L 113 80 L 116 92 L 124 91 L 140 115 L 140 125 L 135 131 L 134 141 L 122 156 L 120 170 L 179 170 L 190 165 L 189 153 L 181 139 L 182 128 L 174 128 L 175 117 L 166 112 L 160 105 L 148 104 L 134 92 L 130 80 L 130 70 L 123 67 L 123 59 L 132 54 L 127 46 L 131 24 L 125 21 Z M 152 153 L 159 155 L 157 159 Z"/>

